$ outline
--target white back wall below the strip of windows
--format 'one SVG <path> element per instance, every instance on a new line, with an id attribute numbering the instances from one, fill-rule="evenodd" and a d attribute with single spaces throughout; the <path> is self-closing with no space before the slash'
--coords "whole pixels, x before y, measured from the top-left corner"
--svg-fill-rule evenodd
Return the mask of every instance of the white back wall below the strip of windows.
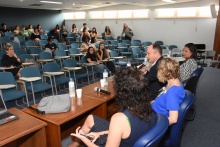
<path id="1" fill-rule="evenodd" d="M 175 44 L 183 48 L 186 43 L 206 44 L 207 49 L 213 49 L 216 19 L 155 19 L 154 10 L 151 10 L 150 19 L 136 20 L 66 20 L 65 24 L 70 30 L 73 23 L 80 29 L 86 22 L 90 29 L 96 27 L 98 32 L 104 32 L 105 26 L 110 26 L 114 37 L 121 34 L 122 25 L 127 22 L 134 32 L 133 39 L 141 41 L 162 40 L 164 44 Z"/>

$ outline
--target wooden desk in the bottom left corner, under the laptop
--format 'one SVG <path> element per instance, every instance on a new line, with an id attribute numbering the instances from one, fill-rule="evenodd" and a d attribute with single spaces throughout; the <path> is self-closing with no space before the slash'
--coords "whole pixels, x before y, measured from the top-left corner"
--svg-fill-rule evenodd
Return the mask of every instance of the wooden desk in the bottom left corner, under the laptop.
<path id="1" fill-rule="evenodd" d="M 18 119 L 0 126 L 0 146 L 3 147 L 46 147 L 45 122 L 16 108 L 9 110 Z"/>

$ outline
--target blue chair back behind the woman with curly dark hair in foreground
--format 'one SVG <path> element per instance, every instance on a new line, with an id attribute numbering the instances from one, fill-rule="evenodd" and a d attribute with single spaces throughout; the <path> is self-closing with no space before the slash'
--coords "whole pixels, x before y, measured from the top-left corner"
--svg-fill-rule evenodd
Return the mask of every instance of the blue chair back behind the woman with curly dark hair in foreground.
<path id="1" fill-rule="evenodd" d="M 133 147 L 157 147 L 169 127 L 169 121 L 163 114 L 156 115 L 155 125 L 142 135 Z"/>

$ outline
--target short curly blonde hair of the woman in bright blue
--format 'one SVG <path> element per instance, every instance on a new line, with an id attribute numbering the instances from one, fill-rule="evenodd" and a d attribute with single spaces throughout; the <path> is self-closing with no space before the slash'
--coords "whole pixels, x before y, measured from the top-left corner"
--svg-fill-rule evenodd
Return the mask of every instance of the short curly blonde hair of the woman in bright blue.
<path id="1" fill-rule="evenodd" d="M 158 65 L 157 77 L 160 82 L 180 77 L 179 63 L 171 58 L 164 58 Z"/>

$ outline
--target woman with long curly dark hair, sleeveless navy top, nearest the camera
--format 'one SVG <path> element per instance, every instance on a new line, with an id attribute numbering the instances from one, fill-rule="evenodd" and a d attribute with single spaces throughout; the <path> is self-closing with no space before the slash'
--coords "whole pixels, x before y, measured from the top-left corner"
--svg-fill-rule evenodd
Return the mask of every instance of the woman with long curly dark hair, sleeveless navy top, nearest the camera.
<path id="1" fill-rule="evenodd" d="M 118 112 L 112 116 L 110 123 L 89 115 L 83 126 L 71 134 L 86 146 L 132 147 L 155 124 L 148 81 L 139 70 L 133 67 L 121 69 L 114 76 L 113 87 Z M 80 144 L 77 139 L 70 147 Z"/>

